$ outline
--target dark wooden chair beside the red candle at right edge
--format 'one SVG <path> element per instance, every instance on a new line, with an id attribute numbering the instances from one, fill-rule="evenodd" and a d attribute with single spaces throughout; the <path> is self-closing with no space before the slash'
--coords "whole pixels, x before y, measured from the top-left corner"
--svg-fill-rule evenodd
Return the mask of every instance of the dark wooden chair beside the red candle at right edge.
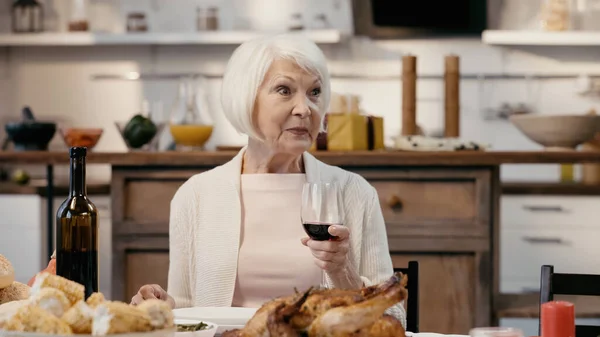
<path id="1" fill-rule="evenodd" d="M 554 300 L 554 295 L 600 296 L 600 275 L 555 273 L 554 266 L 542 266 L 540 277 L 540 320 L 539 336 L 542 335 L 542 304 Z M 577 337 L 596 337 L 600 326 L 576 325 Z"/>

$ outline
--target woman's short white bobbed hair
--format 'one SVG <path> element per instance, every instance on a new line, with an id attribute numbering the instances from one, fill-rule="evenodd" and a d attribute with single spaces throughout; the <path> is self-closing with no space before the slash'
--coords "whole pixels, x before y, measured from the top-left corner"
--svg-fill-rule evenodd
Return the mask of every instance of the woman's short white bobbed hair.
<path id="1" fill-rule="evenodd" d="M 327 60 L 321 49 L 301 35 L 280 34 L 247 41 L 231 55 L 221 87 L 221 106 L 225 118 L 237 132 L 260 139 L 253 124 L 253 110 L 258 88 L 274 60 L 289 59 L 321 82 L 318 113 L 323 120 L 329 108 L 331 85 Z"/>

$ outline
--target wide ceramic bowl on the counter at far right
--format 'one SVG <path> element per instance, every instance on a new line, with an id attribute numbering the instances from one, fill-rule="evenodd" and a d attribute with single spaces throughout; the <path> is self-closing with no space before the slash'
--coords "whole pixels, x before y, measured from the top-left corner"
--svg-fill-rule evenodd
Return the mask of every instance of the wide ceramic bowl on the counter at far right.
<path id="1" fill-rule="evenodd" d="M 574 150 L 600 131 L 600 116 L 513 115 L 511 123 L 546 150 Z"/>

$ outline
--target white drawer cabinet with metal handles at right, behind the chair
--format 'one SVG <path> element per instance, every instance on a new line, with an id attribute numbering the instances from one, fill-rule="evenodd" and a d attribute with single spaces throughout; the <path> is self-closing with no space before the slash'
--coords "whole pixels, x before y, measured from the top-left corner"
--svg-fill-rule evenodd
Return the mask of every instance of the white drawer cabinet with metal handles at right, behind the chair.
<path id="1" fill-rule="evenodd" d="M 505 195 L 501 205 L 501 293 L 537 293 L 544 264 L 565 273 L 600 270 L 599 196 Z"/>

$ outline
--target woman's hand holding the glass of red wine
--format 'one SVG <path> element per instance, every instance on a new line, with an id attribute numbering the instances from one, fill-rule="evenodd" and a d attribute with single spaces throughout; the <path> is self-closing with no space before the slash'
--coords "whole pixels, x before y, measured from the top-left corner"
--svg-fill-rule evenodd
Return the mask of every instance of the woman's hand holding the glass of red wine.
<path id="1" fill-rule="evenodd" d="M 310 248 L 319 268 L 329 275 L 335 275 L 346 269 L 350 230 L 348 227 L 333 225 L 329 226 L 329 234 L 335 238 L 329 241 L 302 238 L 302 244 Z"/>

